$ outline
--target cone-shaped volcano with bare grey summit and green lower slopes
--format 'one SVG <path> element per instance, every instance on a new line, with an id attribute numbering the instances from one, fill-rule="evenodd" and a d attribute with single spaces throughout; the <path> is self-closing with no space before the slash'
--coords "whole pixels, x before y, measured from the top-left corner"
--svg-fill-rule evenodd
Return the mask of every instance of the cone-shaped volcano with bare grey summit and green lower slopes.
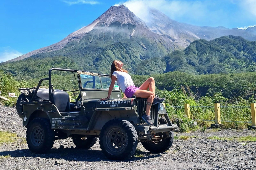
<path id="1" fill-rule="evenodd" d="M 153 33 L 127 7 L 112 6 L 90 25 L 71 33 L 62 41 L 24 54 L 24 58 L 71 57 L 80 69 L 108 72 L 114 59 L 132 70 L 143 59 L 162 57 L 179 48 L 170 39 Z"/>

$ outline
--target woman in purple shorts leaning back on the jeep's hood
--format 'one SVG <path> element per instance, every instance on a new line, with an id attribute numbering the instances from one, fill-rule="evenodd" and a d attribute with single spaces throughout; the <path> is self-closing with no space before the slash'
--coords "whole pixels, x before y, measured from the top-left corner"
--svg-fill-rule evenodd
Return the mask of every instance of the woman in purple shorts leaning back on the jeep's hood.
<path id="1" fill-rule="evenodd" d="M 153 77 L 148 78 L 140 87 L 135 87 L 131 76 L 123 69 L 124 63 L 115 60 L 111 65 L 111 84 L 108 89 L 107 98 L 101 100 L 109 100 L 115 81 L 124 92 L 124 98 L 131 98 L 133 95 L 147 99 L 146 114 L 142 116 L 142 119 L 148 124 L 153 125 L 150 119 L 151 105 L 155 105 L 165 100 L 165 98 L 158 98 L 155 96 L 155 80 Z M 149 88 L 149 91 L 147 90 Z"/>

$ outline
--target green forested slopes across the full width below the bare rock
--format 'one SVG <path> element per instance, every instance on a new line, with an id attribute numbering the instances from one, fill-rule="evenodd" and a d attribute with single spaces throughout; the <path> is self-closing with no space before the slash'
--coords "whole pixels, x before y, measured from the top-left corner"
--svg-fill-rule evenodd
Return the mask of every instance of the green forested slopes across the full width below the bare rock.
<path id="1" fill-rule="evenodd" d="M 114 36 L 116 40 L 123 37 L 119 34 Z M 137 75 L 170 71 L 197 75 L 256 70 L 256 42 L 241 37 L 224 36 L 212 41 L 196 40 L 186 49 L 170 54 L 165 53 L 160 44 L 151 43 L 146 39 L 140 41 L 148 47 L 147 49 L 141 46 L 138 39 L 133 41 L 100 44 L 96 40 L 90 42 L 88 35 L 79 44 L 69 43 L 63 49 L 52 53 L 41 53 L 12 63 L 1 63 L 0 69 L 11 72 L 16 79 L 45 76 L 52 67 L 109 73 L 112 61 L 117 59 L 124 61 L 125 68 L 131 74 Z M 145 56 L 146 58 L 143 58 Z"/>

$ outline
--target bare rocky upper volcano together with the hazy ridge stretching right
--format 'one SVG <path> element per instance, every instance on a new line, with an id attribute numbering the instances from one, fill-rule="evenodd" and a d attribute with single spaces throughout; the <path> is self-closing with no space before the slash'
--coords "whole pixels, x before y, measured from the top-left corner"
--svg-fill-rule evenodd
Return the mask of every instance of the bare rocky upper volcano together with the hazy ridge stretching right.
<path id="1" fill-rule="evenodd" d="M 146 39 L 150 39 L 150 42 L 153 41 L 157 43 L 158 41 L 160 41 L 163 48 L 165 48 L 163 49 L 165 51 L 164 53 L 171 52 L 175 49 L 182 49 L 184 47 L 187 47 L 192 41 L 197 39 L 212 40 L 214 38 L 230 34 L 235 36 L 243 35 L 247 40 L 256 40 L 256 31 L 254 31 L 254 29 L 252 28 L 248 29 L 247 31 L 238 29 L 227 29 L 222 26 L 216 28 L 207 26 L 193 26 L 190 24 L 179 23 L 175 20 L 172 20 L 156 9 L 151 9 L 150 15 L 151 19 L 153 19 L 153 24 L 145 23 L 134 13 L 129 11 L 129 9 L 124 5 L 120 5 L 117 7 L 111 6 L 106 12 L 104 12 L 91 24 L 69 34 L 60 42 L 54 43 L 47 47 L 33 50 L 7 62 L 22 60 L 35 54 L 51 53 L 57 50 L 61 50 L 71 42 L 79 43 L 87 34 L 92 32 L 93 30 L 102 29 L 103 27 L 105 27 L 105 31 L 108 32 L 106 28 L 110 28 L 111 25 L 115 25 L 117 23 L 120 23 L 120 27 L 122 27 L 123 24 L 131 24 L 132 27 L 134 27 L 135 25 L 135 29 L 129 30 L 131 31 L 129 34 L 130 39 L 137 36 L 139 38 L 145 37 Z M 141 46 L 143 47 L 143 42 Z M 147 49 L 145 45 L 143 48 Z M 156 56 L 161 56 L 161 54 L 157 54 Z M 145 58 L 145 56 L 141 58 Z"/>

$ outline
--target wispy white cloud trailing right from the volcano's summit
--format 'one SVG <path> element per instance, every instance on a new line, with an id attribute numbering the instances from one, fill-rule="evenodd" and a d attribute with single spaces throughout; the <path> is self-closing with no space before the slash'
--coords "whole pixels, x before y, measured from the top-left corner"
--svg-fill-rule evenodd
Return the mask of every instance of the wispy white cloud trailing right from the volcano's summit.
<path id="1" fill-rule="evenodd" d="M 215 17 L 219 11 L 211 11 L 210 7 L 215 5 L 214 1 L 190 1 L 190 0 L 128 0 L 115 4 L 116 6 L 124 4 L 135 15 L 143 21 L 148 20 L 147 14 L 149 8 L 155 8 L 173 20 L 181 18 L 190 18 L 191 20 L 200 21 L 205 16 Z"/>

